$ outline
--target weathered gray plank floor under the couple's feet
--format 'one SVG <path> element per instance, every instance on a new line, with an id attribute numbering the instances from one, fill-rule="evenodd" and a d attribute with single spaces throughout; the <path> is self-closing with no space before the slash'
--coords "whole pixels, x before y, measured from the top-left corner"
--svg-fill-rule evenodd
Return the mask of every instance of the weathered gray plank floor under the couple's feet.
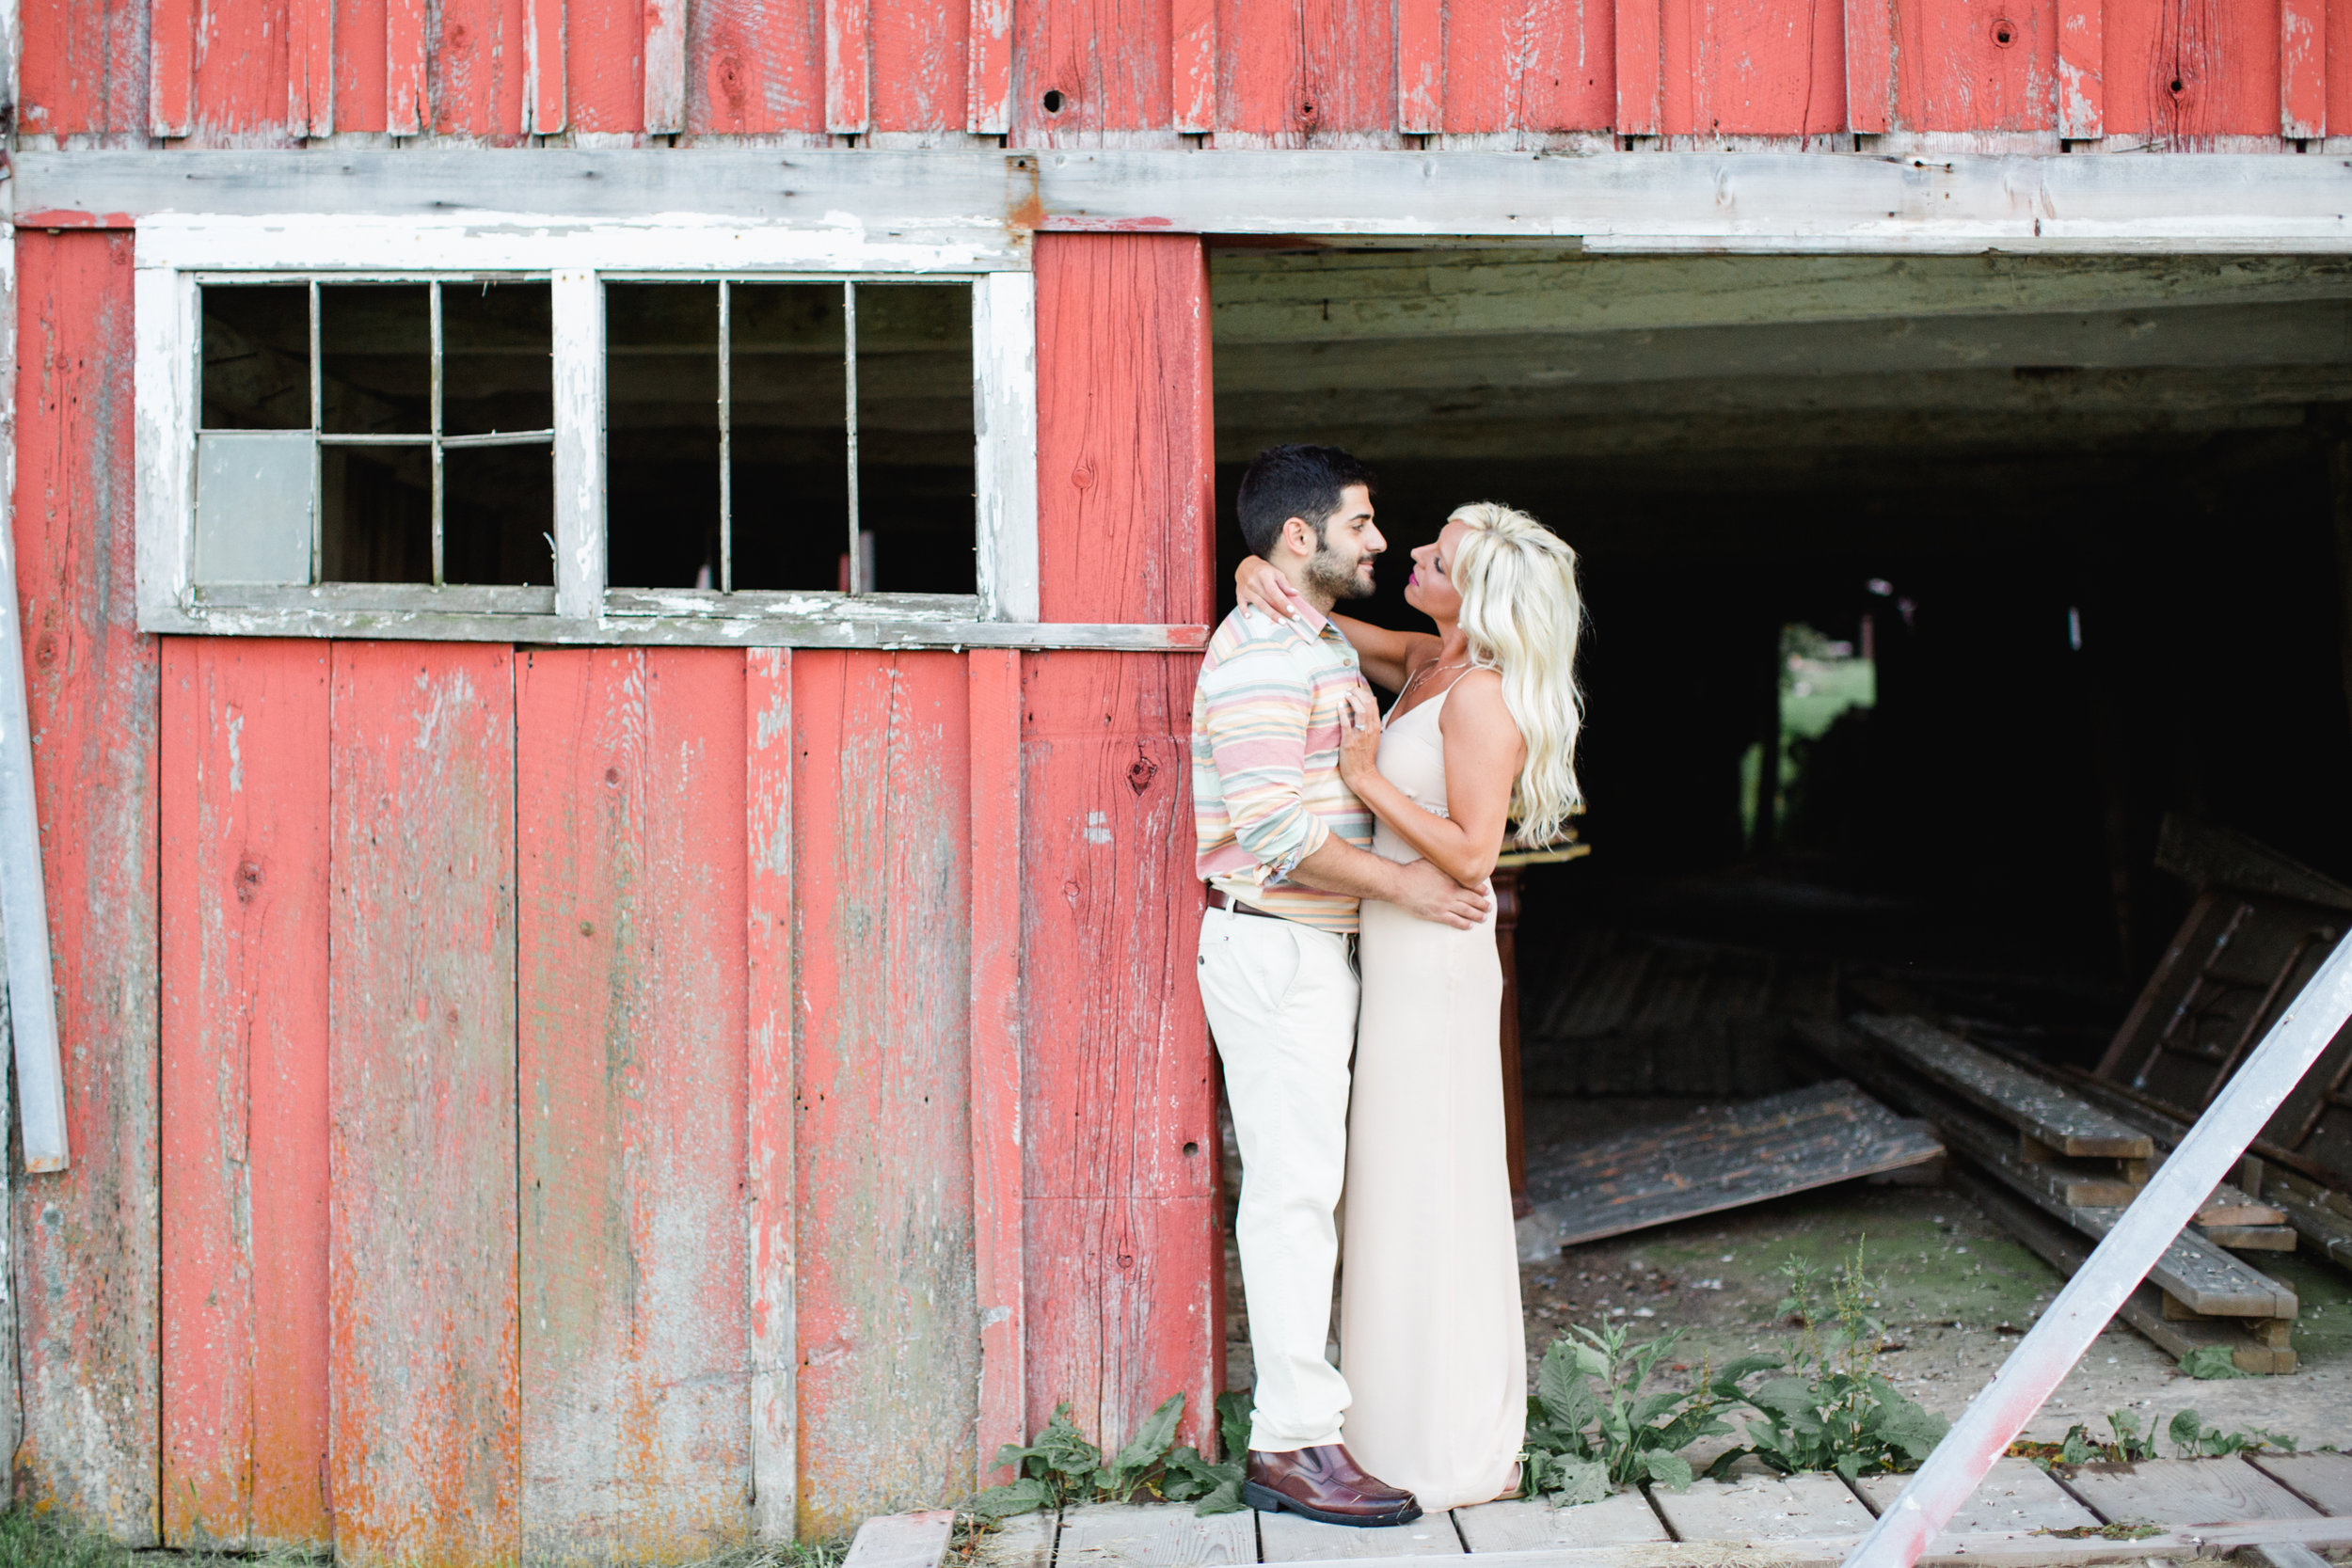
<path id="1" fill-rule="evenodd" d="M 1743 1460 L 1755 1467 L 1755 1460 Z M 1623 1490 L 1552 1507 L 1505 1500 L 1432 1514 L 1390 1530 L 1350 1530 L 1296 1514 L 1216 1514 L 1185 1505 L 1084 1505 L 1007 1521 L 976 1542 L 974 1568 L 1195 1568 L 1214 1563 L 1327 1563 L 1341 1559 L 1489 1556 L 1496 1568 L 1668 1568 L 1670 1563 L 1773 1563 L 1830 1568 L 1910 1476 L 1835 1474 L 1696 1481 L 1686 1490 Z M 2352 1542 L 2352 1455 L 2256 1460 L 2145 1460 L 2044 1472 L 1999 1460 L 1929 1542 L 1924 1563 L 2072 1568 L 2253 1547 L 2274 1566 L 2310 1568 L 2298 1552 Z M 917 1516 L 906 1516 L 917 1519 Z M 936 1519 L 936 1516 L 920 1516 Z M 2157 1537 L 2105 1537 L 2105 1526 L 2152 1526 Z M 868 1535 L 873 1547 L 868 1549 Z M 938 1540 L 931 1526 L 870 1521 L 847 1568 L 938 1568 L 896 1547 Z"/>

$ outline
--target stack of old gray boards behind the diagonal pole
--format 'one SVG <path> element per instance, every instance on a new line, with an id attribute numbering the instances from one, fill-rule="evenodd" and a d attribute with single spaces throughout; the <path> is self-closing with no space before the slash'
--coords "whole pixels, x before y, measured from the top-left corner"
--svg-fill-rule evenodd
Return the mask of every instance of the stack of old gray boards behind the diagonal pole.
<path id="1" fill-rule="evenodd" d="M 2074 1272 L 2157 1166 L 2147 1131 L 1919 1018 L 1865 1013 L 1851 1032 L 1804 1034 L 1839 1070 L 1926 1117 L 1992 1215 L 2051 1267 Z M 2223 1246 L 2284 1237 L 2291 1248 L 2284 1220 L 2225 1182 L 2147 1272 L 2124 1321 L 2176 1356 L 2220 1345 L 2239 1371 L 2296 1371 L 2296 1293 Z"/>

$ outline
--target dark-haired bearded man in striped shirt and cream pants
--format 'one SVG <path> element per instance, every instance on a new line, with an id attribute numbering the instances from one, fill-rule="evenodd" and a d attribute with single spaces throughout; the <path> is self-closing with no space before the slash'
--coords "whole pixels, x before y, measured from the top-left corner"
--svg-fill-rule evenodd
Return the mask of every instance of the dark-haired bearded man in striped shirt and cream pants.
<path id="1" fill-rule="evenodd" d="M 1414 1495 L 1364 1474 L 1341 1443 L 1348 1385 L 1324 1359 L 1334 1208 L 1348 1168 L 1359 898 L 1470 929 L 1484 893 L 1428 860 L 1371 853 L 1371 813 L 1338 778 L 1355 649 L 1324 614 L 1371 592 L 1385 548 L 1371 473 L 1334 447 L 1270 447 L 1242 475 L 1251 552 L 1305 602 L 1279 623 L 1235 611 L 1209 639 L 1192 691 L 1200 997 L 1242 1143 L 1235 1225 L 1258 1368 L 1244 1497 L 1324 1523 L 1421 1516 Z"/>

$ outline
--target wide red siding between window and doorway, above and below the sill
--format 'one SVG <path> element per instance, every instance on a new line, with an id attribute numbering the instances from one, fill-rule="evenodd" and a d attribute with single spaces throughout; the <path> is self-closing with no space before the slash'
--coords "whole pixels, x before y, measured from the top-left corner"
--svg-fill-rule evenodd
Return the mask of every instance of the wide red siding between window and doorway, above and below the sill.
<path id="1" fill-rule="evenodd" d="M 1207 621 L 1209 275 L 1190 235 L 1037 240 L 1047 621 Z M 1190 656 L 1030 654 L 1021 712 L 1028 1406 L 1120 1439 L 1221 1382 L 1216 1100 L 1192 983 Z"/>

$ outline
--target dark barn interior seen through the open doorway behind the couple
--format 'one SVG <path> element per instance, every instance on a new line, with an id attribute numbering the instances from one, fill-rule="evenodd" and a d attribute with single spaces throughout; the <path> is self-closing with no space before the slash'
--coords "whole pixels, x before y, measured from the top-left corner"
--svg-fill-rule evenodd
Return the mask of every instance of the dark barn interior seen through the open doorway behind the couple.
<path id="1" fill-rule="evenodd" d="M 1766 1093 L 1907 1004 L 2096 1063 L 2166 813 L 2352 877 L 2336 259 L 1214 252 L 1221 569 L 1270 442 L 1402 555 L 1585 562 L 1592 853 L 1524 872 L 1531 1095 Z M 1792 1077 L 1795 1074 L 1795 1077 Z"/>

